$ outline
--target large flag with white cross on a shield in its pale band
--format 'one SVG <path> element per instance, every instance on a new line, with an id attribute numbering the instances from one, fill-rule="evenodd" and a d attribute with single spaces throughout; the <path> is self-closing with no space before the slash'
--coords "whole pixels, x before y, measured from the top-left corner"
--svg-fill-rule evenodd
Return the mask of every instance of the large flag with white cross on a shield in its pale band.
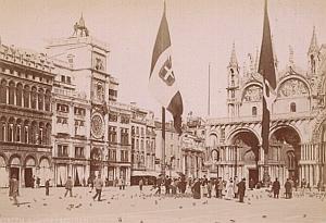
<path id="1" fill-rule="evenodd" d="M 152 54 L 149 89 L 162 107 L 172 113 L 174 127 L 180 134 L 184 106 L 172 67 L 171 39 L 165 16 L 165 3 Z"/>

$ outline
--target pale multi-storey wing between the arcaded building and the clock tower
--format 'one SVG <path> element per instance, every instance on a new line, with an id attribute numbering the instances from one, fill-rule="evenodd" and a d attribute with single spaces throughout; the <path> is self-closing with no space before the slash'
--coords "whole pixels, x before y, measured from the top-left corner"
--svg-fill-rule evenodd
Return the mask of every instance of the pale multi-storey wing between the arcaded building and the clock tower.
<path id="1" fill-rule="evenodd" d="M 52 145 L 55 186 L 68 176 L 74 185 L 84 185 L 89 176 L 90 104 L 78 92 L 73 70 L 66 61 L 53 61 L 55 79 L 52 92 Z"/>

